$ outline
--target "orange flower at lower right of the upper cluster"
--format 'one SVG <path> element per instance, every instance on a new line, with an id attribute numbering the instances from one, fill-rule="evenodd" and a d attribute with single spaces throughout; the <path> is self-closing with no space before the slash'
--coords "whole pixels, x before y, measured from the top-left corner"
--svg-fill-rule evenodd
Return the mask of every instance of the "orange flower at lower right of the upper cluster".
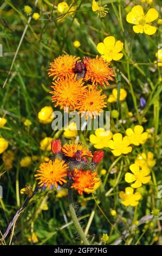
<path id="1" fill-rule="evenodd" d="M 100 115 L 100 112 L 103 111 L 102 108 L 106 107 L 106 102 L 104 101 L 106 95 L 101 95 L 101 92 L 102 90 L 96 90 L 89 86 L 87 93 L 76 106 L 79 109 L 79 113 L 86 113 L 86 118 L 95 118 L 96 115 Z"/>

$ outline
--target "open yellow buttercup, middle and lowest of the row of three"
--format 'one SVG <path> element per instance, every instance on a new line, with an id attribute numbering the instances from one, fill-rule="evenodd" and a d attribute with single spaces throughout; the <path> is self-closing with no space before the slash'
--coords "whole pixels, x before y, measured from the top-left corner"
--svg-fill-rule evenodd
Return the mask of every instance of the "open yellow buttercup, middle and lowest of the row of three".
<path id="1" fill-rule="evenodd" d="M 113 149 L 112 153 L 114 156 L 120 156 L 121 154 L 128 154 L 132 151 L 132 147 L 129 146 L 130 144 L 131 141 L 127 136 L 122 138 L 121 133 L 115 133 L 113 139 L 108 142 L 108 147 Z"/>

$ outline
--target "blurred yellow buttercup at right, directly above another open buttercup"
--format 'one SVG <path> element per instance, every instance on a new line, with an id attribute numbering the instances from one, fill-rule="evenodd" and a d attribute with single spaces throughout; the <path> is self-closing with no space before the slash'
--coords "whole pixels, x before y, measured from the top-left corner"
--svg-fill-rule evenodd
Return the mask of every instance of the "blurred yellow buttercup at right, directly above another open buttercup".
<path id="1" fill-rule="evenodd" d="M 145 153 L 139 154 L 135 159 L 135 163 L 137 163 L 140 167 L 153 167 L 156 163 L 156 160 L 153 158 L 153 153 L 148 151 L 147 155 Z"/>

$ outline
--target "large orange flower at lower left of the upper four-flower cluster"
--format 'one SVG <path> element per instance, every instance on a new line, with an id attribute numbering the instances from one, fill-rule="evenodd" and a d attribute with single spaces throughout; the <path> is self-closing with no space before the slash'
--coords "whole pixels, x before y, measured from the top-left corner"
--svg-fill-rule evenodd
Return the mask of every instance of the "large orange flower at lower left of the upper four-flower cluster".
<path id="1" fill-rule="evenodd" d="M 54 96 L 51 97 L 53 102 L 56 102 L 55 107 L 58 105 L 63 107 L 75 108 L 78 101 L 86 93 L 86 87 L 83 87 L 82 79 L 76 80 L 76 77 L 66 77 L 59 81 L 53 82 Z"/>

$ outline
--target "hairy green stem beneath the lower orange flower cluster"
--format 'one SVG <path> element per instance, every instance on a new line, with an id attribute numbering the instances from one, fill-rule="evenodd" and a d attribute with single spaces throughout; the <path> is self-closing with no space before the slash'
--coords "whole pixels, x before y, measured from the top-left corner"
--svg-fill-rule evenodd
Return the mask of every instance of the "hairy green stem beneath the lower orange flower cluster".
<path id="1" fill-rule="evenodd" d="M 74 204 L 73 204 L 73 190 L 72 188 L 69 187 L 68 189 L 68 201 L 69 201 L 69 210 L 70 210 L 70 215 L 72 217 L 72 221 L 74 223 L 74 226 L 77 230 L 77 233 L 80 235 L 81 240 L 83 241 L 84 245 L 89 245 L 89 242 L 86 238 L 86 235 L 77 219 L 75 209 L 74 209 Z"/>

